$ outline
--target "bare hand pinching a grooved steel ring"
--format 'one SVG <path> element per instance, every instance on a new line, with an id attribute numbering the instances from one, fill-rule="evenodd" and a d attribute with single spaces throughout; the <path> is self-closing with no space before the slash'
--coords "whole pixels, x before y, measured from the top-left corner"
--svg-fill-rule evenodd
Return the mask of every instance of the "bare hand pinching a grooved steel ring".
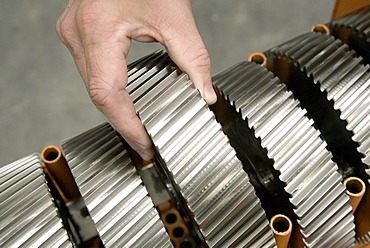
<path id="1" fill-rule="evenodd" d="M 154 151 L 126 91 L 131 40 L 160 42 L 208 104 L 210 59 L 188 0 L 70 0 L 57 33 L 97 108 L 144 160 Z"/>

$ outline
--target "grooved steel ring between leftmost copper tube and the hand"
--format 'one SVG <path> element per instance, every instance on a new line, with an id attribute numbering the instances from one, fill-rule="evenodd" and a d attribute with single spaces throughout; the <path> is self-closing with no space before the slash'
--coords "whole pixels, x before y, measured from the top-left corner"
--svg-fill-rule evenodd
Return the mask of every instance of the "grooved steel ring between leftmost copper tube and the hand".
<path id="1" fill-rule="evenodd" d="M 64 141 L 62 147 L 105 246 L 171 246 L 128 152 L 108 123 Z"/>

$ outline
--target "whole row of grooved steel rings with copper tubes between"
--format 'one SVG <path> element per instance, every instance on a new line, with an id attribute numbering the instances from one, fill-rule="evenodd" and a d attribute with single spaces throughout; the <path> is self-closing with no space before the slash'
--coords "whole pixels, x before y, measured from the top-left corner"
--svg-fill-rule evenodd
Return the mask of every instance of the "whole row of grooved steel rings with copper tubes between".
<path id="1" fill-rule="evenodd" d="M 104 123 L 0 167 L 0 246 L 370 245 L 370 8 L 249 60 L 212 106 L 163 51 L 129 65 L 153 161 Z"/>

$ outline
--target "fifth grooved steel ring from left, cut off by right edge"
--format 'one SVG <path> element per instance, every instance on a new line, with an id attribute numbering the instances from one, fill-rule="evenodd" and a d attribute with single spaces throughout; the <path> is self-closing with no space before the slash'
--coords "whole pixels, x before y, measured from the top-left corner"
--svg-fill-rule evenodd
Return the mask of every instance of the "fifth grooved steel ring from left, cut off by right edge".
<path id="1" fill-rule="evenodd" d="M 307 33 L 267 52 L 286 58 L 320 85 L 333 109 L 358 143 L 361 159 L 370 168 L 370 73 L 355 52 L 332 36 Z M 368 172 L 368 170 L 367 170 Z M 370 175 L 370 174 L 369 174 Z"/>

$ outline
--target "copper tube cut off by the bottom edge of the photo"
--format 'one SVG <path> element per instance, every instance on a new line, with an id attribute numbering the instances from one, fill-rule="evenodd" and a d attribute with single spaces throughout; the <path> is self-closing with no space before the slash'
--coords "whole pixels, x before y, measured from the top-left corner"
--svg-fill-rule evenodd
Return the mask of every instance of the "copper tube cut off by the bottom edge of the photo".
<path id="1" fill-rule="evenodd" d="M 274 233 L 276 246 L 278 248 L 288 247 L 290 234 L 293 228 L 290 219 L 285 215 L 277 214 L 271 218 L 270 227 Z"/>

